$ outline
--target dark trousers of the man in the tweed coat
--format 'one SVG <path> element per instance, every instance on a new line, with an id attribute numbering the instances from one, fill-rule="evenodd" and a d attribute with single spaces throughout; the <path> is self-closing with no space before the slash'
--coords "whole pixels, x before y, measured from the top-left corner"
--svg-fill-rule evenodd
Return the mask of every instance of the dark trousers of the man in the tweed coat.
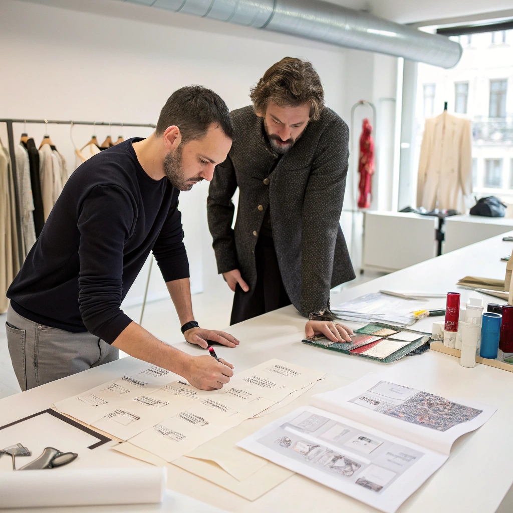
<path id="1" fill-rule="evenodd" d="M 236 285 L 230 325 L 291 304 L 283 286 L 272 237 L 260 234 L 255 247 L 255 261 L 257 285 L 248 292 Z"/>

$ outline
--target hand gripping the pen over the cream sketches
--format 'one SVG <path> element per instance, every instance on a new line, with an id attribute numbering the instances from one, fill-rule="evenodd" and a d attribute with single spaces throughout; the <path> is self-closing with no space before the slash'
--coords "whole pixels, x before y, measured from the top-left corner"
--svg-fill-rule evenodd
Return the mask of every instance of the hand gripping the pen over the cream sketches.
<path id="1" fill-rule="evenodd" d="M 219 362 L 210 354 L 191 357 L 186 364 L 184 378 L 200 390 L 216 390 L 230 381 L 233 365 L 222 358 Z"/>

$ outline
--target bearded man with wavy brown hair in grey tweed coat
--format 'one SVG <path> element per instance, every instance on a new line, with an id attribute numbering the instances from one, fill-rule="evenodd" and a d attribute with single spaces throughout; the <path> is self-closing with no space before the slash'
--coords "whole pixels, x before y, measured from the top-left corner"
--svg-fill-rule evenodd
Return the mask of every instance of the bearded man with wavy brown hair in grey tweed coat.
<path id="1" fill-rule="evenodd" d="M 354 278 L 339 223 L 349 129 L 298 58 L 271 66 L 250 96 L 253 105 L 230 113 L 235 138 L 207 200 L 218 271 L 235 292 L 231 324 L 291 303 L 326 320 L 330 289 Z M 325 324 L 348 339 L 349 328 Z"/>

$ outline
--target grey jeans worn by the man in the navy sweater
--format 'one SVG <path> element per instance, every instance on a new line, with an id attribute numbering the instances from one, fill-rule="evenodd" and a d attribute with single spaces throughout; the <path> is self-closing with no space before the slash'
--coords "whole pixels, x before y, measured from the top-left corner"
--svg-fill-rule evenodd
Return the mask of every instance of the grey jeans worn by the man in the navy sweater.
<path id="1" fill-rule="evenodd" d="M 91 333 L 71 333 L 29 321 L 7 310 L 7 345 L 22 390 L 119 358 L 116 347 Z"/>

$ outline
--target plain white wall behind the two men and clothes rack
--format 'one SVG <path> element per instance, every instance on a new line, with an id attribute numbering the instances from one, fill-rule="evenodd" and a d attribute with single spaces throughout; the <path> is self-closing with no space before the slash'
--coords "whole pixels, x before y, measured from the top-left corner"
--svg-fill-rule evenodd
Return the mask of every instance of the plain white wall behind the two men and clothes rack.
<path id="1" fill-rule="evenodd" d="M 156 123 L 171 92 L 192 83 L 218 92 L 230 109 L 248 105 L 249 88 L 271 64 L 291 55 L 312 61 L 324 83 L 326 104 L 349 124 L 355 101 L 370 97 L 377 102 L 391 94 L 397 61 L 112 0 L 2 0 L 0 48 L 0 117 L 125 123 Z M 359 134 L 361 119 L 355 127 Z M 15 126 L 15 140 L 22 129 Z M 44 130 L 28 127 L 36 143 Z M 74 166 L 69 127 L 54 125 L 49 132 Z M 73 139 L 83 146 L 91 132 L 75 126 Z M 150 132 L 123 129 L 125 138 Z M 96 128 L 100 142 L 108 133 L 108 128 Z M 111 134 L 116 137 L 119 129 Z M 207 190 L 208 184 L 200 183 L 180 199 L 194 291 L 226 286 L 216 276 L 206 225 Z M 150 298 L 165 294 L 154 270 Z M 141 275 L 128 298 L 132 303 L 141 297 L 144 283 Z"/>

